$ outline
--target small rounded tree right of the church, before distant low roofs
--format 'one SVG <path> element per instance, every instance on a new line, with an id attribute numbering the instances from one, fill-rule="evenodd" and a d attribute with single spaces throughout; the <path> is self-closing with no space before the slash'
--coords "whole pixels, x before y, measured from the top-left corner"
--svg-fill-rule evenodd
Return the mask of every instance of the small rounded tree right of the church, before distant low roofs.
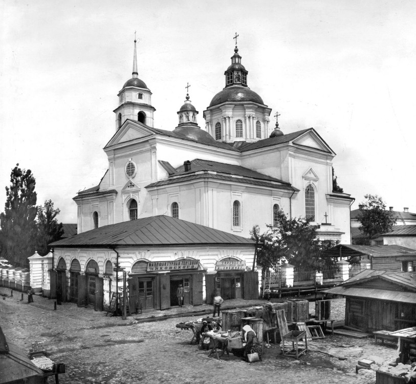
<path id="1" fill-rule="evenodd" d="M 368 239 L 371 239 L 378 233 L 390 232 L 396 219 L 393 213 L 386 210 L 386 204 L 378 195 L 365 195 L 364 202 L 359 204 L 360 212 L 357 216 L 361 223 L 359 229 Z"/>

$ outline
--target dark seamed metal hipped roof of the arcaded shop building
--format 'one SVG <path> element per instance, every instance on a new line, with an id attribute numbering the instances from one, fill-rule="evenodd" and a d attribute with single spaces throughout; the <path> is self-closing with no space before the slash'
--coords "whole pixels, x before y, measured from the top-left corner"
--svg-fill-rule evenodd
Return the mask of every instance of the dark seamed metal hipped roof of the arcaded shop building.
<path id="1" fill-rule="evenodd" d="M 169 216 L 152 216 L 106 225 L 49 245 L 103 247 L 208 244 L 255 246 L 255 242 L 251 239 Z"/>

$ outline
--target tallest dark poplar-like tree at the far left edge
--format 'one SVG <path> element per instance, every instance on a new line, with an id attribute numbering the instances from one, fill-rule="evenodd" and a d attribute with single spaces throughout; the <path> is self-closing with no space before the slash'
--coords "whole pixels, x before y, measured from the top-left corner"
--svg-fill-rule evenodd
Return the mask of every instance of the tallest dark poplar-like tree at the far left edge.
<path id="1" fill-rule="evenodd" d="M 36 181 L 30 169 L 22 170 L 16 164 L 10 182 L 10 187 L 6 187 L 5 211 L 0 214 L 2 257 L 14 266 L 28 267 L 27 258 L 35 251 Z"/>

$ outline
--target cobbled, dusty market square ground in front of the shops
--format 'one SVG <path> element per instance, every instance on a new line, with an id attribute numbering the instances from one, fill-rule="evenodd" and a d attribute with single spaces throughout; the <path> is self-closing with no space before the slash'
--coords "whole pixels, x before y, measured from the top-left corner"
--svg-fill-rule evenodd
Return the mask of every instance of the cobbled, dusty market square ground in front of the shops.
<path id="1" fill-rule="evenodd" d="M 63 303 L 53 310 L 53 302 L 35 296 L 34 303 L 20 302 L 20 293 L 0 288 L 0 325 L 9 343 L 25 351 L 34 341 L 43 341 L 49 358 L 63 362 L 66 373 L 60 383 L 375 383 L 375 372 L 360 370 L 357 361 L 370 358 L 391 361 L 397 357 L 395 345 L 375 345 L 373 338 L 358 339 L 325 335 L 316 340 L 320 347 L 341 346 L 354 356 L 338 359 L 308 351 L 299 360 L 281 355 L 279 346 L 264 348 L 262 361 L 248 364 L 230 354 L 222 360 L 190 345 L 191 331 L 176 324 L 201 316 L 138 322 L 138 316 L 106 317 L 105 312 Z M 26 297 L 25 297 L 26 299 Z M 345 301 L 332 301 L 332 317 L 343 319 Z M 314 303 L 310 313 L 314 313 Z M 143 317 L 141 315 L 140 317 Z M 361 350 L 357 352 L 358 347 Z M 54 382 L 50 379 L 50 382 Z"/>

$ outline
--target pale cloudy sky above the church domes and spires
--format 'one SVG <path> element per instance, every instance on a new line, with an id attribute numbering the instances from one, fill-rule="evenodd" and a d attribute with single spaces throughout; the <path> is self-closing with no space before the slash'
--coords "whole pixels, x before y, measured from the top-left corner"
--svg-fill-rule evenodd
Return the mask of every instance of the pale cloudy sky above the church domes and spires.
<path id="1" fill-rule="evenodd" d="M 76 223 L 79 190 L 107 169 L 117 94 L 138 72 L 155 127 L 173 130 L 189 95 L 200 112 L 225 86 L 238 33 L 248 86 L 280 113 L 283 133 L 313 127 L 338 184 L 416 211 L 416 2 L 91 0 L 0 2 L 0 211 L 19 163 L 38 204 Z M 272 120 L 271 126 L 274 126 Z"/>

